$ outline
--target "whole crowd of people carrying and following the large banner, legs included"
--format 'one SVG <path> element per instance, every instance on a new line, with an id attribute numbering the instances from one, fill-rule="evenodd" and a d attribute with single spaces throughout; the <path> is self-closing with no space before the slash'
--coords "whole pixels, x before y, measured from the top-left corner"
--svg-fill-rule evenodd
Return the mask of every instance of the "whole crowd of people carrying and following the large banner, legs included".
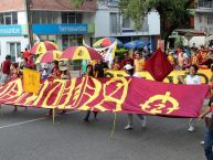
<path id="1" fill-rule="evenodd" d="M 183 77 L 179 76 L 179 79 L 183 84 L 191 84 L 196 85 L 201 84 L 200 76 L 196 75 L 199 68 L 210 68 L 213 73 L 213 65 L 212 65 L 212 56 L 213 56 L 213 47 L 206 49 L 201 46 L 200 49 L 191 49 L 191 53 L 187 53 L 183 49 L 178 49 L 175 52 L 172 50 L 168 50 L 167 56 L 168 61 L 171 63 L 174 70 L 187 70 L 189 68 L 189 75 L 184 79 Z M 135 76 L 140 77 L 138 72 L 146 71 L 145 64 L 147 57 L 151 54 L 146 53 L 145 51 L 135 51 L 124 54 L 124 58 L 119 58 L 118 56 L 115 57 L 113 66 L 108 66 L 108 64 L 102 60 L 98 61 L 82 61 L 82 76 L 92 76 L 92 77 L 104 77 L 105 70 L 111 68 L 115 71 L 124 70 L 126 71 L 126 76 Z M 1 65 L 2 73 L 0 75 L 0 85 L 6 84 L 9 81 L 12 81 L 17 77 L 22 76 L 22 70 L 31 68 L 38 70 L 41 72 L 41 78 L 45 79 L 49 77 L 52 78 L 60 78 L 60 79 L 70 79 L 70 67 L 65 62 L 57 62 L 54 61 L 52 63 L 46 64 L 39 64 L 35 65 L 35 55 L 31 54 L 28 50 L 21 53 L 18 57 L 17 62 L 11 61 L 11 56 L 7 55 L 6 60 Z M 213 83 L 213 74 L 211 78 L 211 83 Z M 211 113 L 212 107 L 212 98 L 210 98 L 209 107 L 201 114 L 200 118 L 205 117 L 209 114 L 209 120 L 206 120 L 207 130 L 205 132 L 204 138 L 204 150 L 207 160 L 213 159 L 212 153 L 212 145 L 213 145 L 213 119 Z M 14 111 L 17 113 L 17 106 L 14 106 Z M 60 114 L 64 114 L 66 110 L 62 110 Z M 49 116 L 53 114 L 53 110 L 50 109 Z M 97 118 L 97 111 L 94 111 L 94 119 Z M 84 117 L 84 121 L 89 121 L 90 110 L 88 110 Z M 145 128 L 147 124 L 147 118 L 145 115 L 138 114 L 138 118 L 141 121 L 141 127 Z M 130 130 L 134 128 L 132 126 L 132 114 L 128 114 L 128 124 L 124 128 L 125 130 Z M 190 119 L 189 121 L 189 131 L 194 131 L 195 129 L 195 119 Z"/>

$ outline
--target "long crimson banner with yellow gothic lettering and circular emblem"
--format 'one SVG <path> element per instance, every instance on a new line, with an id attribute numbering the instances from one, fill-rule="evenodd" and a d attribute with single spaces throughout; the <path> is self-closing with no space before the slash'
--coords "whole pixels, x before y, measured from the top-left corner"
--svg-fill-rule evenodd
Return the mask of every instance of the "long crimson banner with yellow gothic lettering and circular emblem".
<path id="1" fill-rule="evenodd" d="M 198 117 L 207 85 L 175 85 L 138 77 L 46 79 L 38 94 L 20 78 L 0 87 L 0 104 L 39 108 Z"/>

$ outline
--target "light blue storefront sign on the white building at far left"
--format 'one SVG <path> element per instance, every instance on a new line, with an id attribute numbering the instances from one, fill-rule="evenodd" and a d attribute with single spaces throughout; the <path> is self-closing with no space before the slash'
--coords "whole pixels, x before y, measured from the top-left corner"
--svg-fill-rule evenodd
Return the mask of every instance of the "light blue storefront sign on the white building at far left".
<path id="1" fill-rule="evenodd" d="M 0 35 L 17 36 L 22 34 L 22 25 L 0 25 Z"/>

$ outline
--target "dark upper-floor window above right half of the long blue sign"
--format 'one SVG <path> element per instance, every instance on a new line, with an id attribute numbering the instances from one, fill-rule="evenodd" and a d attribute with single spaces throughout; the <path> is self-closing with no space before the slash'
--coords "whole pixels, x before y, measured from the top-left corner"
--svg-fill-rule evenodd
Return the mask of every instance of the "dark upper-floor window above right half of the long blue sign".
<path id="1" fill-rule="evenodd" d="M 64 12 L 62 13 L 62 23 L 82 23 L 82 13 Z"/>

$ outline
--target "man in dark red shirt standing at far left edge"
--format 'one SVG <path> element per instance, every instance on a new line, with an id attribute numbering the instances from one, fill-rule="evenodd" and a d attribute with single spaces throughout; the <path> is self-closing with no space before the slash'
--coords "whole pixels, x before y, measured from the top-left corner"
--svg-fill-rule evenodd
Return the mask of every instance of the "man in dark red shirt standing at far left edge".
<path id="1" fill-rule="evenodd" d="M 6 61 L 2 63 L 2 75 L 0 78 L 0 85 L 3 85 L 10 78 L 10 65 L 11 56 L 7 55 Z"/>

